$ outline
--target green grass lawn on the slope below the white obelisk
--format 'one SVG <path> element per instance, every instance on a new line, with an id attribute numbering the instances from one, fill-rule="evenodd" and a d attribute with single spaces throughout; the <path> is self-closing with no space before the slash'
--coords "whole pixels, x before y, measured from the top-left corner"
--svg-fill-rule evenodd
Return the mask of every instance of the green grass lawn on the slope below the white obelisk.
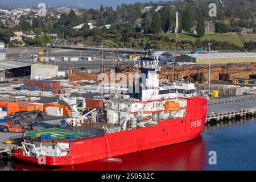
<path id="1" fill-rule="evenodd" d="M 168 36 L 170 39 L 191 40 L 192 42 L 194 42 L 196 39 L 198 39 L 195 34 L 190 34 L 190 35 L 179 34 L 179 38 L 176 38 L 175 34 L 163 34 L 163 35 Z M 249 42 L 250 40 L 253 40 L 254 42 L 256 42 L 256 35 L 243 35 L 243 38 L 245 38 L 246 42 Z M 237 34 L 225 34 L 225 35 L 205 34 L 200 39 L 201 40 L 214 39 L 217 41 L 228 41 L 230 43 L 236 44 L 237 46 L 243 47 L 243 44 Z"/>

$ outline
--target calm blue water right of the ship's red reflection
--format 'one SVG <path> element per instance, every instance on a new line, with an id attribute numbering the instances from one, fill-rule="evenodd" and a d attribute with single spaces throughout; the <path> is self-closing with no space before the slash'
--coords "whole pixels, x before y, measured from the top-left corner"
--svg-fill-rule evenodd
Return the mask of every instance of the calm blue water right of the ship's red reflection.
<path id="1" fill-rule="evenodd" d="M 205 130 L 207 151 L 216 151 L 217 165 L 205 170 L 256 170 L 256 119 Z M 209 158 L 209 156 L 207 156 Z"/>

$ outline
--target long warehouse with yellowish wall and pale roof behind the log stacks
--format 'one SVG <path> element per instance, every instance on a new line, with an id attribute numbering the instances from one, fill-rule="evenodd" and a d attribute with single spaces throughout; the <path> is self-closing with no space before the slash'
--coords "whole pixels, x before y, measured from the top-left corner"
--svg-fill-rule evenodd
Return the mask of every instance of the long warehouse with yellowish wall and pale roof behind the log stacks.
<path id="1" fill-rule="evenodd" d="M 192 62 L 196 64 L 209 64 L 209 54 L 187 54 L 176 57 L 179 62 Z M 226 63 L 253 63 L 256 61 L 256 53 L 211 53 L 211 64 L 226 64 Z"/>

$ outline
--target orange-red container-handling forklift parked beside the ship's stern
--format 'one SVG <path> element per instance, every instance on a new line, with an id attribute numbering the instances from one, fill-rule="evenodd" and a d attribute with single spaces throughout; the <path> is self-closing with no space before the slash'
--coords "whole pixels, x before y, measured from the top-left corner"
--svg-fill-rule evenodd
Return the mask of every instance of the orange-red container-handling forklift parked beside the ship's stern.
<path id="1" fill-rule="evenodd" d="M 28 131 L 32 131 L 33 128 L 30 124 L 24 123 L 22 121 L 22 116 L 23 115 L 30 115 L 30 114 L 37 114 L 35 117 L 35 121 L 37 122 L 39 119 L 43 119 L 42 114 L 40 113 L 40 110 L 33 110 L 33 111 L 24 111 L 24 112 L 19 112 L 15 114 L 10 114 L 6 117 L 6 124 L 2 125 L 2 131 L 7 133 L 7 132 L 16 132 L 16 133 L 26 133 Z"/>

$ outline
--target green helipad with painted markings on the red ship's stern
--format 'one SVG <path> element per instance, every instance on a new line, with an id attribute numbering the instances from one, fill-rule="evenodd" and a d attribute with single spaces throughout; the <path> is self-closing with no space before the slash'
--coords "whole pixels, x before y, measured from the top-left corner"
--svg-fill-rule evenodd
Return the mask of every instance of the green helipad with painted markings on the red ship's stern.
<path id="1" fill-rule="evenodd" d="M 51 135 L 51 139 L 45 140 L 68 140 L 68 135 L 73 135 L 72 139 L 81 139 L 81 138 L 90 138 L 94 135 L 86 134 L 86 133 L 79 133 L 75 131 L 68 131 L 63 129 L 46 129 L 46 130 L 38 130 L 38 131 L 30 131 L 24 134 L 24 137 L 31 138 L 31 139 L 42 139 L 43 135 Z"/>

